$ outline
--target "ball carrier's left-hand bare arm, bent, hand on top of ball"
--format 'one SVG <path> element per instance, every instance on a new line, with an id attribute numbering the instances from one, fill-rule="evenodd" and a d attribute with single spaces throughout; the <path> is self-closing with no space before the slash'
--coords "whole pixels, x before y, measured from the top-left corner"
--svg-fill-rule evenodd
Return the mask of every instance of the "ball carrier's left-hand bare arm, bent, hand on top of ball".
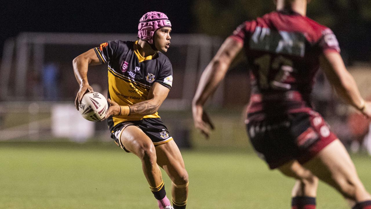
<path id="1" fill-rule="evenodd" d="M 89 51 L 84 52 L 72 61 L 73 72 L 75 73 L 76 80 L 80 86 L 79 92 L 77 93 L 75 99 L 75 107 L 77 110 L 79 110 L 79 102 L 81 102 L 84 94 L 86 92 L 93 91 L 93 88 L 89 85 L 88 82 L 88 66 L 99 64 L 101 64 L 101 62 L 99 62 L 94 49 L 90 49 Z"/>

